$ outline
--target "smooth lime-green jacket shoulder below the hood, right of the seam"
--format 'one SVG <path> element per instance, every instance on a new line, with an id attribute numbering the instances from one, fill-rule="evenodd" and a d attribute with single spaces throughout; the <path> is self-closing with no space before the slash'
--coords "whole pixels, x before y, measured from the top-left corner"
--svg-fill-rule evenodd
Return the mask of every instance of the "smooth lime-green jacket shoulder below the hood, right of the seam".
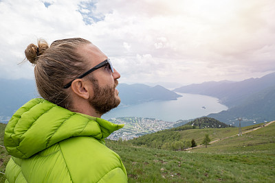
<path id="1" fill-rule="evenodd" d="M 96 138 L 78 136 L 59 145 L 73 182 L 98 182 L 113 173 L 126 178 L 120 156 Z"/>

